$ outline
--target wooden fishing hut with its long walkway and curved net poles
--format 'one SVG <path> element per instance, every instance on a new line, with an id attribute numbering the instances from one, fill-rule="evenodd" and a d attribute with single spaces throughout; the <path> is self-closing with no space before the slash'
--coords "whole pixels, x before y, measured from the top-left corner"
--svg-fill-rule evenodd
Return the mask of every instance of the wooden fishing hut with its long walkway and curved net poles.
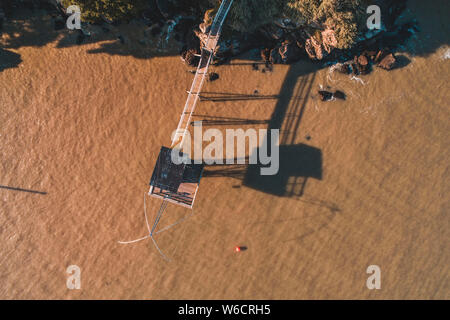
<path id="1" fill-rule="evenodd" d="M 197 196 L 198 187 L 200 184 L 200 179 L 202 177 L 203 164 L 193 163 L 188 159 L 186 154 L 181 153 L 180 150 L 183 150 L 184 138 L 188 133 L 189 124 L 191 123 L 192 115 L 195 111 L 197 102 L 200 100 L 200 92 L 202 90 L 203 83 L 205 82 L 206 75 L 208 74 L 208 67 L 213 59 L 214 52 L 219 41 L 222 25 L 232 3 L 233 0 L 223 0 L 220 4 L 219 10 L 217 11 L 217 14 L 211 25 L 208 39 L 203 44 L 200 55 L 200 62 L 198 64 L 194 80 L 192 82 L 191 90 L 188 91 L 188 97 L 183 112 L 181 113 L 181 118 L 178 123 L 177 130 L 175 131 L 175 135 L 172 139 L 171 147 L 161 147 L 158 159 L 156 160 L 155 168 L 153 169 L 152 177 L 150 179 L 150 190 L 148 192 L 148 195 L 162 199 L 163 202 L 156 214 L 153 226 L 150 227 L 148 221 L 144 197 L 144 213 L 148 235 L 132 241 L 119 241 L 119 243 L 136 243 L 150 238 L 155 244 L 159 253 L 165 259 L 169 260 L 169 258 L 164 255 L 164 253 L 158 247 L 154 236 L 179 224 L 185 219 L 183 218 L 180 221 L 161 230 L 156 230 L 161 216 L 164 213 L 164 210 L 166 209 L 169 202 L 190 209 L 193 208 L 195 197 Z M 174 152 L 175 156 L 179 157 L 178 159 L 185 160 L 173 161 L 172 155 Z M 176 153 L 179 154 L 177 155 Z"/>

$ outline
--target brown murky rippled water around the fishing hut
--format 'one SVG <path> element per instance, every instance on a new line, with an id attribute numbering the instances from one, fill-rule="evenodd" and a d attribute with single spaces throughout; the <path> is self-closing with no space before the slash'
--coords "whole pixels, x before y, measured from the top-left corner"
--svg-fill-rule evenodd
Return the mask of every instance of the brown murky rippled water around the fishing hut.
<path id="1" fill-rule="evenodd" d="M 158 236 L 169 263 L 151 241 L 117 241 L 146 233 L 143 195 L 192 74 L 176 56 L 130 55 L 112 41 L 66 46 L 45 23 L 48 44 L 30 34 L 4 47 L 22 62 L 0 73 L 0 185 L 46 194 L 0 188 L 0 297 L 450 298 L 448 11 L 410 7 L 422 32 L 391 72 L 360 81 L 305 62 L 213 67 L 220 79 L 204 91 L 268 97 L 203 101 L 197 118 L 283 115 L 282 144 L 319 152 L 321 178 L 259 188 L 245 172 L 206 175 L 193 216 Z M 347 100 L 320 102 L 321 85 Z M 149 200 L 149 213 L 159 204 Z M 189 213 L 169 205 L 161 227 Z M 66 287 L 72 264 L 81 290 Z M 381 268 L 381 290 L 366 288 L 369 265 Z"/>

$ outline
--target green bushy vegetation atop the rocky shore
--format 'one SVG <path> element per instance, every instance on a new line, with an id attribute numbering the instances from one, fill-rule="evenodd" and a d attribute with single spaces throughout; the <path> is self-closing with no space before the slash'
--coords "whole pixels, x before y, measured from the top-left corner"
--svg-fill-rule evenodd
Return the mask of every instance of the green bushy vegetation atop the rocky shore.
<path id="1" fill-rule="evenodd" d="M 194 6 L 186 0 L 167 0 L 174 7 Z M 212 20 L 221 0 L 195 2 L 199 17 L 206 13 Z M 85 21 L 130 19 L 148 7 L 146 0 L 63 0 L 64 6 L 77 4 Z M 190 4 L 189 4 L 190 3 Z M 351 47 L 363 21 L 367 0 L 235 0 L 229 13 L 226 29 L 252 32 L 277 18 L 289 18 L 304 26 L 328 27 L 335 31 L 337 47 Z M 211 9 L 213 8 L 213 9 Z M 156 10 L 156 8 L 153 8 Z"/>

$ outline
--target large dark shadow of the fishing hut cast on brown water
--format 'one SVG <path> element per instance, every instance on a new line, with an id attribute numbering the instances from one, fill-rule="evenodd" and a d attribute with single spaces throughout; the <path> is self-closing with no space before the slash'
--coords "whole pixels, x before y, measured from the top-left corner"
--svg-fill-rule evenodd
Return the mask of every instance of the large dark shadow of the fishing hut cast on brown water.
<path id="1" fill-rule="evenodd" d="M 241 180 L 243 186 L 285 197 L 301 197 L 308 178 L 321 180 L 322 151 L 303 143 L 295 143 L 316 71 L 316 66 L 304 63 L 289 68 L 274 111 L 267 121 L 267 141 L 270 141 L 271 129 L 282 129 L 279 170 L 275 175 L 261 175 L 262 165 L 248 164 L 207 166 L 204 177 L 232 177 Z M 259 149 L 252 152 L 259 154 Z"/>

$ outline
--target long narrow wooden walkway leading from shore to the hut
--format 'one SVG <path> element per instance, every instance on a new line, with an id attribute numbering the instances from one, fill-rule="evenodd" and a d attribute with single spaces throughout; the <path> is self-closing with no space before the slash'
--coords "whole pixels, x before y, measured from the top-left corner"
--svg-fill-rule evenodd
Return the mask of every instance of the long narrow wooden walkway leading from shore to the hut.
<path id="1" fill-rule="evenodd" d="M 216 50 L 217 42 L 219 41 L 220 31 L 222 30 L 222 25 L 225 18 L 230 10 L 233 0 L 223 0 L 214 21 L 211 25 L 209 31 L 208 39 L 205 46 L 202 48 L 200 63 L 197 67 L 197 72 L 195 73 L 194 81 L 192 82 L 191 90 L 188 92 L 188 97 L 186 104 L 181 114 L 180 122 L 176 133 L 172 139 L 171 147 L 182 148 L 184 137 L 189 130 L 189 123 L 191 122 L 192 114 L 195 111 L 197 102 L 199 100 L 199 95 L 205 82 L 206 75 L 208 74 L 209 64 L 212 61 L 214 51 Z"/>

